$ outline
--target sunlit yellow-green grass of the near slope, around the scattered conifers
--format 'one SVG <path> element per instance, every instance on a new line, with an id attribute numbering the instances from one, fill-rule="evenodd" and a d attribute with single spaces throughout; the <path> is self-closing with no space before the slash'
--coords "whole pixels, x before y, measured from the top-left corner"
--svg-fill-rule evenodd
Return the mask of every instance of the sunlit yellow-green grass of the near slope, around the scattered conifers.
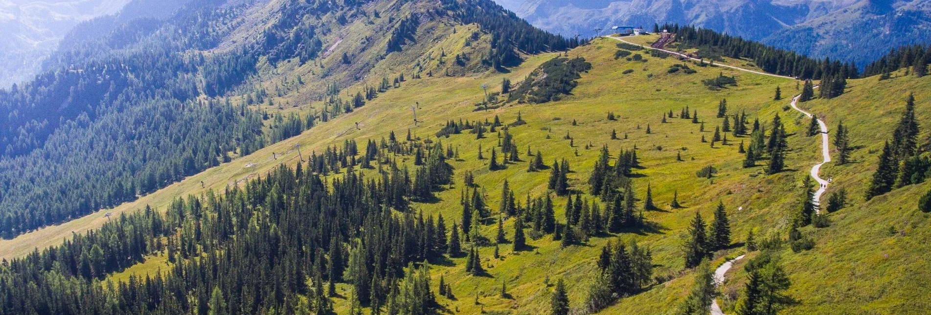
<path id="1" fill-rule="evenodd" d="M 351 26 L 358 27 L 358 26 Z M 446 50 L 452 58 L 456 49 L 463 49 L 460 37 L 466 34 L 468 26 L 460 26 L 456 35 L 444 37 L 441 41 L 451 50 Z M 449 31 L 452 34 L 452 31 Z M 645 36 L 644 39 L 648 39 Z M 425 213 L 442 213 L 447 223 L 457 221 L 461 215 L 458 204 L 464 171 L 473 171 L 476 183 L 480 185 L 486 201 L 492 211 L 497 211 L 500 196 L 500 183 L 508 180 L 512 189 L 522 201 L 530 193 L 534 197 L 546 191 L 548 171 L 527 172 L 523 153 L 527 145 L 535 152 L 543 152 L 547 164 L 554 158 L 567 158 L 572 165 L 570 184 L 573 189 L 587 191 L 588 173 L 598 157 L 602 144 L 609 146 L 612 155 L 622 148 L 637 145 L 638 157 L 644 167 L 638 170 L 635 188 L 642 198 L 649 183 L 653 187 L 654 200 L 661 211 L 647 212 L 647 219 L 655 226 L 653 230 L 642 233 L 620 235 L 623 240 L 637 240 L 648 246 L 654 253 L 656 275 L 669 275 L 673 279 L 657 283 L 644 293 L 621 299 L 602 313 L 623 314 L 666 314 L 671 313 L 687 294 L 693 277 L 688 270 L 682 271 L 681 242 L 685 226 L 694 216 L 701 212 L 709 217 L 719 200 L 727 206 L 733 231 L 732 239 L 742 241 L 750 228 L 756 228 L 757 235 L 765 236 L 773 231 L 785 231 L 789 225 L 789 212 L 800 202 L 801 182 L 810 167 L 820 161 L 820 139 L 803 137 L 799 132 L 806 127 L 806 120 L 793 110 L 784 111 L 789 104 L 789 94 L 796 93 L 795 82 L 789 79 L 764 75 L 753 75 L 723 67 L 693 67 L 694 75 L 680 73 L 668 74 L 667 69 L 679 61 L 675 58 L 660 59 L 649 57 L 647 62 L 627 62 L 614 60 L 616 51 L 614 39 L 597 39 L 587 46 L 573 49 L 571 57 L 582 56 L 591 62 L 593 69 L 582 75 L 573 95 L 559 102 L 543 104 L 510 103 L 506 107 L 489 112 L 474 112 L 474 103 L 482 97 L 480 86 L 488 85 L 490 91 L 497 91 L 503 78 L 510 78 L 515 84 L 530 73 L 537 65 L 555 57 L 557 54 L 530 56 L 524 64 L 510 69 L 509 73 L 486 73 L 466 76 L 435 76 L 412 79 L 399 89 L 385 92 L 364 107 L 351 114 L 338 116 L 330 122 L 318 125 L 302 135 L 270 145 L 254 154 L 236 158 L 230 163 L 196 174 L 191 178 L 170 185 L 137 201 L 117 207 L 107 212 L 127 212 L 151 204 L 164 210 L 170 199 L 185 194 L 199 194 L 205 189 L 222 190 L 227 185 L 236 185 L 247 178 L 254 178 L 269 171 L 280 163 L 294 165 L 298 161 L 295 144 L 300 144 L 304 155 L 311 150 L 322 151 L 327 145 L 342 145 L 345 139 L 356 139 L 364 144 L 367 139 L 386 137 L 394 130 L 401 139 L 409 128 L 421 138 L 433 138 L 447 119 L 491 120 L 500 116 L 503 122 L 514 121 L 518 112 L 528 122 L 527 125 L 512 128 L 521 148 L 518 164 L 508 164 L 506 170 L 488 171 L 488 160 L 477 159 L 478 144 L 486 150 L 488 157 L 492 147 L 497 144 L 493 133 L 487 138 L 475 140 L 472 134 L 452 135 L 441 139 L 444 144 L 452 144 L 459 149 L 463 161 L 453 161 L 455 182 L 450 190 L 438 194 L 440 201 L 432 204 L 415 204 L 415 209 Z M 342 44 L 341 44 L 342 45 Z M 418 44 L 420 45 L 420 44 Z M 423 44 L 426 47 L 426 44 Z M 457 46 L 459 45 L 459 46 Z M 327 45 L 325 45 L 327 46 Z M 421 50 L 424 51 L 424 50 Z M 432 50 L 431 50 L 432 51 Z M 333 55 L 342 55 L 336 50 Z M 397 74 L 398 71 L 410 71 L 412 62 L 417 57 L 401 56 L 408 62 L 379 63 L 370 78 L 381 79 L 382 75 Z M 436 62 L 436 61 L 434 61 Z M 439 64 L 439 63 L 433 63 Z M 306 66 L 306 65 L 304 65 Z M 291 74 L 299 73 L 303 68 L 292 69 Z M 405 70 L 407 69 L 407 70 Z M 633 73 L 623 74 L 627 69 Z M 405 72 L 406 74 L 408 72 Z M 737 86 L 719 91 L 712 91 L 701 84 L 701 80 L 723 73 L 735 75 Z M 436 74 L 436 72 L 435 72 Z M 389 76 L 390 77 L 390 76 Z M 305 80 L 311 80 L 305 78 Z M 317 82 L 317 81 L 314 81 Z M 371 83 L 371 82 L 370 82 Z M 345 89 L 352 94 L 364 83 Z M 786 99 L 772 101 L 776 86 L 783 90 Z M 875 78 L 852 80 L 848 93 L 830 100 L 817 100 L 804 103 L 804 108 L 813 108 L 816 113 L 827 116 L 830 129 L 836 125 L 836 119 L 843 118 L 852 129 L 854 144 L 865 145 L 854 153 L 857 163 L 837 167 L 827 165 L 822 171 L 833 177 L 834 184 L 830 191 L 846 187 L 851 192 L 853 204 L 841 212 L 830 214 L 833 225 L 815 230 L 806 227 L 803 232 L 810 234 L 817 241 L 816 248 L 803 253 L 783 254 L 783 262 L 789 271 L 793 286 L 789 294 L 799 299 L 800 304 L 788 309 L 789 313 L 910 313 L 928 309 L 927 301 L 919 298 L 928 294 L 926 286 L 929 267 L 928 215 L 917 212 L 914 208 L 916 196 L 924 193 L 928 184 L 899 189 L 887 196 L 863 202 L 860 199 L 862 189 L 874 168 L 876 154 L 870 154 L 882 144 L 884 137 L 891 132 L 896 121 L 901 100 L 909 90 L 916 92 L 931 90 L 929 80 L 909 77 L 875 82 Z M 291 103 L 320 106 L 318 102 L 303 101 L 306 91 L 290 94 Z M 345 93 L 345 91 L 344 91 Z M 918 113 L 925 127 L 931 126 L 931 99 L 929 95 L 919 93 Z M 742 154 L 737 153 L 737 144 L 747 138 L 732 138 L 731 145 L 716 145 L 715 148 L 699 142 L 702 133 L 697 124 L 690 120 L 668 118 L 669 123 L 660 123 L 660 117 L 670 109 L 678 115 L 680 109 L 688 105 L 698 110 L 698 116 L 706 122 L 706 137 L 710 137 L 715 126 L 722 119 L 714 117 L 717 104 L 722 98 L 728 100 L 731 113 L 745 110 L 749 120 L 759 117 L 768 125 L 772 116 L 778 113 L 783 117 L 790 134 L 790 154 L 786 164 L 789 171 L 776 175 L 763 175 L 762 167 L 743 169 Z M 895 101 L 893 101 L 895 100 Z M 278 102 L 278 101 L 277 101 Z M 418 102 L 418 118 L 425 121 L 420 127 L 412 126 L 410 106 Z M 288 109 L 293 111 L 295 109 Z M 614 112 L 618 120 L 609 121 L 608 112 Z M 560 119 L 555 119 L 560 118 Z M 572 126 L 572 120 L 578 126 Z M 358 122 L 361 130 L 355 129 Z M 652 134 L 646 134 L 649 124 Z M 637 129 L 640 125 L 641 129 Z M 617 130 L 620 138 L 611 140 L 611 130 Z M 550 139 L 546 139 L 547 130 L 551 130 Z M 568 140 L 562 136 L 569 132 L 574 138 L 575 147 L 570 147 Z M 923 132 L 923 136 L 926 132 Z M 591 143 L 591 149 L 585 145 Z M 662 146 L 662 150 L 657 149 Z M 578 150 L 578 156 L 575 156 Z M 681 150 L 684 161 L 676 161 L 676 151 Z M 277 159 L 272 158 L 275 152 Z M 282 155 L 282 153 L 284 153 Z M 412 163 L 411 160 L 404 163 Z M 764 161 L 758 164 L 765 164 Z M 250 165 L 247 167 L 247 165 Z M 695 176 L 695 171 L 713 165 L 719 170 L 712 180 Z M 371 171 L 370 171 L 371 172 Z M 207 187 L 201 188 L 203 181 Z M 670 210 L 668 202 L 674 191 L 679 192 L 679 200 L 686 207 Z M 827 196 L 825 197 L 825 199 Z M 564 220 L 562 214 L 565 199 L 555 199 L 557 218 Z M 742 207 L 742 210 L 738 210 Z M 513 235 L 512 222 L 506 221 L 507 238 Z M 105 219 L 102 213 L 78 218 L 60 226 L 50 226 L 29 233 L 15 240 L 0 240 L 0 253 L 5 256 L 20 256 L 32 251 L 36 246 L 45 247 L 58 244 L 61 238 L 70 232 L 83 232 L 99 227 Z M 889 226 L 896 226 L 905 231 L 905 236 L 889 236 Z M 495 226 L 485 226 L 482 233 L 493 235 Z M 512 253 L 510 245 L 501 247 L 502 259 L 492 259 L 492 247 L 480 249 L 483 265 L 490 277 L 471 277 L 464 271 L 464 258 L 454 258 L 454 265 L 437 265 L 432 275 L 439 281 L 443 275 L 452 283 L 457 300 L 442 297 L 439 302 L 452 312 L 473 314 L 480 310 L 503 310 L 515 314 L 538 314 L 548 309 L 551 287 L 544 283 L 548 276 L 549 283 L 565 278 L 573 308 L 579 308 L 585 299 L 588 281 L 597 272 L 595 259 L 600 248 L 614 238 L 595 238 L 585 245 L 560 249 L 557 241 L 545 237 L 530 240 L 535 250 Z M 714 265 L 720 264 L 725 256 L 741 253 L 741 249 L 717 253 Z M 888 254 L 888 257 L 885 255 Z M 165 267 L 164 258 L 159 262 L 155 256 L 136 267 L 112 275 L 112 279 L 126 279 L 128 274 L 144 275 L 154 273 L 157 267 Z M 733 272 L 724 291 L 739 288 L 743 281 L 743 263 L 735 264 Z M 507 283 L 509 298 L 501 298 L 498 291 L 502 281 Z M 348 287 L 339 286 L 340 294 L 348 296 Z M 480 305 L 475 305 L 475 295 L 479 295 Z M 907 303 L 913 303 L 911 306 Z M 337 310 L 341 313 L 348 309 L 344 298 L 334 299 Z M 725 308 L 732 307 L 727 301 Z"/>

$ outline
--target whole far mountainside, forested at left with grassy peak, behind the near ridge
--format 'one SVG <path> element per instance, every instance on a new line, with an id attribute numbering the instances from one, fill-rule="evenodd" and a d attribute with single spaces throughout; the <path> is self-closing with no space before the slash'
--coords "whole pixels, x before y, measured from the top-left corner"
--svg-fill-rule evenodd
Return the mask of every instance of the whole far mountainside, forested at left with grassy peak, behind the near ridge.
<path id="1" fill-rule="evenodd" d="M 0 90 L 0 236 L 248 155 L 351 112 L 404 75 L 500 71 L 521 54 L 576 45 L 483 1 L 214 1 L 131 20 L 63 49 L 55 70 Z M 363 80 L 371 89 L 340 95 Z M 324 99 L 323 108 L 301 106 Z"/>

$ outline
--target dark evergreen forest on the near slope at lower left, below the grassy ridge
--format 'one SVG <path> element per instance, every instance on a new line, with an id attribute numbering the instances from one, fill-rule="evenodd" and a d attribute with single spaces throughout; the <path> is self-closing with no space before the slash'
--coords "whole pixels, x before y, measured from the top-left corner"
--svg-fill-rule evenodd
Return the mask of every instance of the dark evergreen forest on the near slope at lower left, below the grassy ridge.
<path id="1" fill-rule="evenodd" d="M 507 130 L 500 123 L 470 126 Z M 344 282 L 353 285 L 354 305 L 387 314 L 426 314 L 438 307 L 430 263 L 448 264 L 447 257 L 467 255 L 466 269 L 482 275 L 477 246 L 510 241 L 522 251 L 528 250 L 524 238 L 546 235 L 573 246 L 643 224 L 631 182 L 624 178 L 636 166 L 629 153 L 612 167 L 617 175 L 601 181 L 601 196 L 612 200 L 603 210 L 599 200 L 570 194 L 565 159 L 553 166 L 552 191 L 570 200 L 564 223 L 555 217 L 551 193 L 527 196 L 521 205 L 507 185 L 506 198 L 492 214 L 468 172 L 461 184 L 461 220 L 414 211 L 411 202 L 436 199 L 434 192 L 453 184 L 447 162 L 452 155 L 452 147 L 442 142 L 404 141 L 392 132 L 380 142 L 370 140 L 364 152 L 346 141 L 295 169 L 280 166 L 241 187 L 176 199 L 164 215 L 148 208 L 122 215 L 100 231 L 5 261 L 0 313 L 329 314 L 334 283 Z M 413 158 L 415 170 L 399 166 L 399 157 Z M 358 169 L 377 172 L 371 178 Z M 507 218 L 518 222 L 514 240 L 505 240 L 501 230 Z M 494 222 L 497 236 L 482 235 L 480 227 Z M 106 274 L 158 252 L 174 263 L 170 269 L 101 283 Z M 609 245 L 604 252 L 600 266 L 605 281 L 618 283 L 614 292 L 638 292 L 652 281 L 648 249 L 632 243 L 627 249 Z M 437 290 L 455 294 L 442 283 Z M 614 300 L 612 292 L 606 294 L 599 295 L 599 308 Z"/>

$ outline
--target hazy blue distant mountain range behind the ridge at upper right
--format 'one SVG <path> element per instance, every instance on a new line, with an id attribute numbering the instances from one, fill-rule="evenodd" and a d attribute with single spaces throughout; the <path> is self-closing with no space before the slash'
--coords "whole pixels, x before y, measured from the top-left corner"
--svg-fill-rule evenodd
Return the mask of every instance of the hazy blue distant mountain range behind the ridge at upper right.
<path id="1" fill-rule="evenodd" d="M 550 32 L 695 24 L 814 57 L 863 65 L 890 48 L 931 42 L 929 0 L 496 0 Z M 606 33 L 607 31 L 604 31 Z"/>

